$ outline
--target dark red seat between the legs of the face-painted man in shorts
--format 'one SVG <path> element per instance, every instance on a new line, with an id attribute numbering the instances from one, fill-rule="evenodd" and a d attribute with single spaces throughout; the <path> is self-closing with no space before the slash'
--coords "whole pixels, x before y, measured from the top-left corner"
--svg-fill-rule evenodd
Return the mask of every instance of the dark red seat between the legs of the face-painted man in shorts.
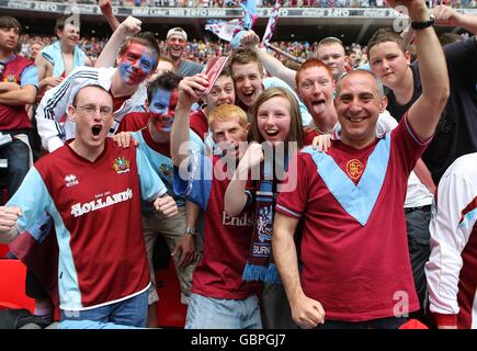
<path id="1" fill-rule="evenodd" d="M 183 328 L 188 306 L 181 303 L 181 287 L 173 260 L 170 260 L 169 268 L 156 271 L 156 285 L 159 295 L 157 303 L 159 327 Z"/>

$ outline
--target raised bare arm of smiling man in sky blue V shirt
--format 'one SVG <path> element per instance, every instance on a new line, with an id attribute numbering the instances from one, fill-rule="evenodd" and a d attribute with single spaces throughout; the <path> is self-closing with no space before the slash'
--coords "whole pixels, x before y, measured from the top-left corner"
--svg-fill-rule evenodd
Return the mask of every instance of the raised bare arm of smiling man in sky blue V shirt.
<path id="1" fill-rule="evenodd" d="M 388 1 L 393 7 L 396 1 Z M 412 22 L 430 19 L 424 0 L 408 0 L 405 5 Z M 428 26 L 416 31 L 416 49 L 422 94 L 408 112 L 408 121 L 420 140 L 429 139 L 435 132 L 442 111 L 448 98 L 448 75 L 444 53 L 434 29 Z"/>

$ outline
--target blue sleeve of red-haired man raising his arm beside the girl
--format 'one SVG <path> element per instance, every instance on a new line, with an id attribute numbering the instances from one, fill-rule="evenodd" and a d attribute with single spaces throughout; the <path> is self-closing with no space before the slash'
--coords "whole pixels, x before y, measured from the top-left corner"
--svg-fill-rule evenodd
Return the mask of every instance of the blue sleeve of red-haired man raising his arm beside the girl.
<path id="1" fill-rule="evenodd" d="M 207 210 L 212 186 L 212 159 L 202 154 L 190 156 L 189 172 L 174 167 L 174 193 L 195 203 L 202 210 Z"/>

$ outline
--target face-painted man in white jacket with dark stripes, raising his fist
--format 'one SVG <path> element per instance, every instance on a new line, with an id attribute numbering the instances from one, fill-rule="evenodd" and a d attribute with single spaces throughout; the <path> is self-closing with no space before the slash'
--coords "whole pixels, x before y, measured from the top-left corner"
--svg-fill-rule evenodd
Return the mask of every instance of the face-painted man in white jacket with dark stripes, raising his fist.
<path id="1" fill-rule="evenodd" d="M 45 149 L 52 152 L 65 140 L 75 137 L 75 124 L 67 120 L 61 125 L 59 120 L 75 93 L 86 84 L 96 83 L 113 95 L 114 122 L 110 135 L 116 132 L 127 113 L 144 105 L 147 98 L 144 81 L 157 67 L 159 46 L 151 33 L 134 34 L 139 30 L 140 21 L 129 16 L 121 23 L 104 47 L 104 55 L 111 57 L 111 53 L 115 53 L 114 47 L 123 43 L 116 57 L 117 68 L 103 68 L 107 59 L 102 58 L 102 53 L 96 61 L 100 68 L 79 67 L 59 86 L 45 93 L 37 109 L 38 133 Z"/>

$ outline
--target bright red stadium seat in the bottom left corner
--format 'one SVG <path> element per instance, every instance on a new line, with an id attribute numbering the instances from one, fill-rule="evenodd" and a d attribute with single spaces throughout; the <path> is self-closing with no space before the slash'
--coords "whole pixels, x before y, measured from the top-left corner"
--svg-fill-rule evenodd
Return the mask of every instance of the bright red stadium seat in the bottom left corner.
<path id="1" fill-rule="evenodd" d="M 0 301 L 26 308 L 35 309 L 35 299 L 25 295 L 26 265 L 20 260 L 0 260 Z"/>

